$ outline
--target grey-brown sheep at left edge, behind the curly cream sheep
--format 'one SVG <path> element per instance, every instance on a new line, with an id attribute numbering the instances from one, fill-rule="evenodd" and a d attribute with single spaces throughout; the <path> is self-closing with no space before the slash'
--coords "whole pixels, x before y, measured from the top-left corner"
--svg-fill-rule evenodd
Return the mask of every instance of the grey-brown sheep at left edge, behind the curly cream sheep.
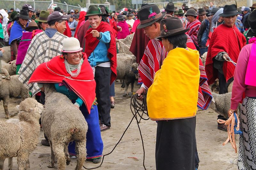
<path id="1" fill-rule="evenodd" d="M 8 103 L 10 97 L 21 96 L 24 100 L 29 97 L 28 89 L 18 79 L 19 75 L 13 75 L 10 80 L 0 80 L 0 100 L 4 100 L 5 118 L 9 119 Z"/>

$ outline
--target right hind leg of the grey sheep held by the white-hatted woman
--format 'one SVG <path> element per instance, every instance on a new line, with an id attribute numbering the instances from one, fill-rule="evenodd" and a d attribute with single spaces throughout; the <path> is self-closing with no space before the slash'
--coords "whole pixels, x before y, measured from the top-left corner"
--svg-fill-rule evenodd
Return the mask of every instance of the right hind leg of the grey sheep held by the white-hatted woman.
<path id="1" fill-rule="evenodd" d="M 86 140 L 76 141 L 76 153 L 77 161 L 75 170 L 81 170 L 86 160 Z"/>

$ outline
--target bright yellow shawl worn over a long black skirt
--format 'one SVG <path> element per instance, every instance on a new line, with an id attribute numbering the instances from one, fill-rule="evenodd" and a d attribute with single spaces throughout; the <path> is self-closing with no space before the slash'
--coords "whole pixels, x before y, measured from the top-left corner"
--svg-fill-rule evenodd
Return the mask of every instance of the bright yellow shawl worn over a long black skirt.
<path id="1" fill-rule="evenodd" d="M 196 116 L 199 78 L 198 51 L 190 48 L 171 50 L 148 89 L 150 119 L 172 120 Z"/>

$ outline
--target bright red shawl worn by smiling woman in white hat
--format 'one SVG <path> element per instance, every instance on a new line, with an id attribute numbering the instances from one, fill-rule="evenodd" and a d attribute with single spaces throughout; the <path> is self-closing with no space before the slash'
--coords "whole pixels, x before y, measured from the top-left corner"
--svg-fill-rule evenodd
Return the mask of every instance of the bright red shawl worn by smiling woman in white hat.
<path id="1" fill-rule="evenodd" d="M 85 54 L 84 58 L 85 60 L 82 64 L 81 72 L 76 78 L 71 77 L 67 73 L 64 59 L 60 58 L 60 56 L 56 56 L 49 62 L 40 64 L 32 74 L 28 83 L 64 83 L 84 101 L 90 113 L 96 96 L 96 82 L 92 68 L 86 60 L 87 57 Z"/>

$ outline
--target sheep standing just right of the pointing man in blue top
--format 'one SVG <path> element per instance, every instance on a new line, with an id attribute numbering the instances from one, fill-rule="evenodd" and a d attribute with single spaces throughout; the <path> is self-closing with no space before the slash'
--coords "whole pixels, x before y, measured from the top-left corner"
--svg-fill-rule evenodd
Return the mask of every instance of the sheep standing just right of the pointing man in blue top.
<path id="1" fill-rule="evenodd" d="M 134 55 L 117 54 L 116 60 L 116 79 L 124 80 L 125 90 L 123 96 L 126 96 L 129 94 L 127 90 L 130 83 L 132 87 L 131 92 L 134 92 L 134 82 L 138 79 L 138 64 L 136 63 L 136 57 Z"/>

